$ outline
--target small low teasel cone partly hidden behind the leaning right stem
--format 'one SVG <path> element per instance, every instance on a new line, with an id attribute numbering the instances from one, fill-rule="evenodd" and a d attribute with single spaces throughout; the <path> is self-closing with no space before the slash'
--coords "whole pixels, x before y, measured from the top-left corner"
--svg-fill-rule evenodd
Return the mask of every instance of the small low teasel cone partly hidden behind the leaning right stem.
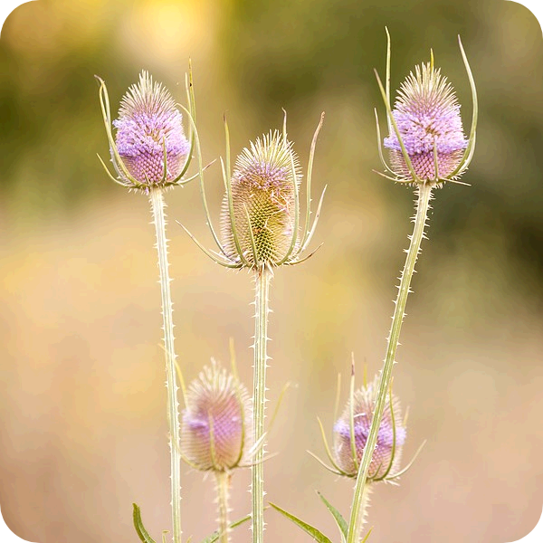
<path id="1" fill-rule="evenodd" d="M 367 386 L 359 388 L 353 398 L 354 436 L 356 462 L 351 447 L 351 407 L 348 403 L 343 413 L 334 424 L 334 460 L 338 467 L 349 476 L 357 475 L 367 435 L 371 426 L 373 409 L 378 390 L 377 377 Z M 394 423 L 392 414 L 394 413 Z M 405 427 L 401 422 L 400 405 L 393 395 L 392 411 L 390 403 L 386 405 L 377 433 L 376 450 L 369 464 L 369 477 L 372 481 L 380 480 L 397 472 L 401 461 L 402 447 L 405 443 Z"/>

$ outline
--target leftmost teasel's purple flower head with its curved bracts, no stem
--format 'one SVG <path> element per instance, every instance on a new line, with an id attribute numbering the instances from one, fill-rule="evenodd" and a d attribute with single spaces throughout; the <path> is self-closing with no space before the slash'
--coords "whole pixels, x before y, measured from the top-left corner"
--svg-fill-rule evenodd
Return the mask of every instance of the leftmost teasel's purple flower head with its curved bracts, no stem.
<path id="1" fill-rule="evenodd" d="M 147 192 L 153 187 L 183 185 L 192 155 L 192 143 L 185 136 L 183 115 L 170 92 L 142 71 L 120 102 L 119 118 L 111 123 L 110 100 L 106 84 L 100 78 L 100 106 L 110 143 L 111 162 L 119 185 Z M 187 98 L 194 123 L 192 77 L 186 81 Z M 185 108 L 184 108 L 185 109 Z M 116 129 L 113 136 L 113 128 Z M 193 137 L 191 136 L 191 140 Z M 101 160 L 101 158 L 100 158 Z"/>

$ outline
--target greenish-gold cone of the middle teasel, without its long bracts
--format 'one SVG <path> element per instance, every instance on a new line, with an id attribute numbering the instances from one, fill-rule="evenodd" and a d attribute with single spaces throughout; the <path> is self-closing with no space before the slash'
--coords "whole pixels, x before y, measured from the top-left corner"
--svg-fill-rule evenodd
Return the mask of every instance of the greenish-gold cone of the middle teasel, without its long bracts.
<path id="1" fill-rule="evenodd" d="M 281 262 L 298 235 L 295 184 L 299 186 L 300 180 L 298 157 L 278 130 L 243 149 L 232 175 L 233 213 L 225 195 L 221 216 L 229 258 L 253 268 Z"/>

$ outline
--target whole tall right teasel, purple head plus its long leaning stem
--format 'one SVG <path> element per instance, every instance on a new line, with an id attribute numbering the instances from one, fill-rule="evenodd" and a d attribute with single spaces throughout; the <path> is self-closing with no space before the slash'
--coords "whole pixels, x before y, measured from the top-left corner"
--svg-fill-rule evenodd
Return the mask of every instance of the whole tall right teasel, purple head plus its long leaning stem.
<path id="1" fill-rule="evenodd" d="M 367 443 L 357 472 L 357 484 L 351 505 L 347 543 L 358 543 L 364 523 L 364 500 L 368 484 L 369 466 L 376 449 L 377 435 L 392 380 L 392 367 L 399 342 L 405 304 L 410 291 L 414 265 L 424 236 L 432 191 L 444 182 L 461 183 L 458 177 L 468 168 L 475 149 L 477 128 L 477 91 L 470 64 L 458 43 L 462 60 L 472 90 L 472 129 L 465 139 L 462 131 L 460 105 L 456 101 L 452 85 L 430 62 L 417 66 L 398 92 L 395 109 L 390 105 L 390 35 L 386 30 L 386 85 L 376 72 L 376 80 L 386 107 L 389 136 L 385 147 L 390 149 L 391 166 L 386 164 L 381 148 L 381 135 L 376 115 L 379 155 L 386 173 L 381 174 L 398 183 L 412 184 L 417 200 L 414 214 L 414 231 L 410 236 L 405 266 L 400 277 L 392 326 L 387 339 L 386 357 L 378 383 L 376 404 Z M 462 185 L 465 185 L 462 183 Z"/>

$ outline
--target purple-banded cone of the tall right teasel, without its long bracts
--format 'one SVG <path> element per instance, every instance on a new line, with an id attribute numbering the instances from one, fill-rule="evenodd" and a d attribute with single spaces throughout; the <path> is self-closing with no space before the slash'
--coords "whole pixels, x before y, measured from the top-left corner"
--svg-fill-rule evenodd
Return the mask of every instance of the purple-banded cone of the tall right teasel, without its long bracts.
<path id="1" fill-rule="evenodd" d="M 436 181 L 451 176 L 469 142 L 464 138 L 460 105 L 452 85 L 440 70 L 431 62 L 416 66 L 402 83 L 392 114 L 419 179 Z M 394 129 L 384 145 L 390 149 L 395 175 L 411 177 Z"/>

